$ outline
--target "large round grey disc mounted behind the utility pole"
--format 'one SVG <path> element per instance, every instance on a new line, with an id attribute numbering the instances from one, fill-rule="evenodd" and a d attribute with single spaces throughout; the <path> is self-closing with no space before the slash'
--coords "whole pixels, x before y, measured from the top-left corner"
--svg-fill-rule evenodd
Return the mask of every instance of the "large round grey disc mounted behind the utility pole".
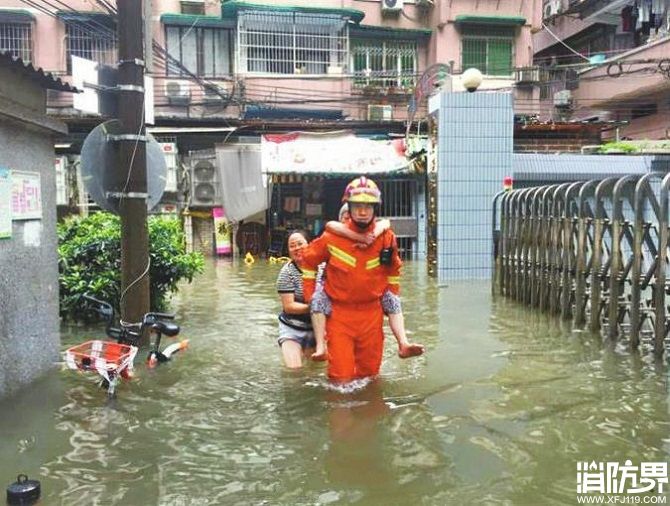
<path id="1" fill-rule="evenodd" d="M 86 136 L 81 148 L 81 174 L 86 191 L 102 209 L 115 214 L 119 213 L 119 198 L 109 194 L 123 192 L 124 182 L 118 182 L 116 177 L 119 143 L 108 140 L 107 136 L 123 133 L 118 120 L 106 121 Z M 147 139 L 147 210 L 151 210 L 165 191 L 167 165 L 160 144 L 150 134 Z"/>

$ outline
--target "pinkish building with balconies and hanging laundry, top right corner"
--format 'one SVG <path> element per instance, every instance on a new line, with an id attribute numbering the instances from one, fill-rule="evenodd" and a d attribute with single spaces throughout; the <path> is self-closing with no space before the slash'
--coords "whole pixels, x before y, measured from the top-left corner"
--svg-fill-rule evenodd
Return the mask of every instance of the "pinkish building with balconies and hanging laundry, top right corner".
<path id="1" fill-rule="evenodd" d="M 670 1 L 543 7 L 533 41 L 542 117 L 611 120 L 620 138 L 670 138 Z"/>

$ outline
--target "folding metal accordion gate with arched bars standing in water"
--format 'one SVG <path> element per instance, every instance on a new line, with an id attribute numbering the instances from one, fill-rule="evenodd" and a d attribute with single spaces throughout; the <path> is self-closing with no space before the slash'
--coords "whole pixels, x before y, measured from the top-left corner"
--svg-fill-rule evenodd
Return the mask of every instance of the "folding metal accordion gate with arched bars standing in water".
<path id="1" fill-rule="evenodd" d="M 494 293 L 661 356 L 669 196 L 670 174 L 657 172 L 499 193 Z"/>

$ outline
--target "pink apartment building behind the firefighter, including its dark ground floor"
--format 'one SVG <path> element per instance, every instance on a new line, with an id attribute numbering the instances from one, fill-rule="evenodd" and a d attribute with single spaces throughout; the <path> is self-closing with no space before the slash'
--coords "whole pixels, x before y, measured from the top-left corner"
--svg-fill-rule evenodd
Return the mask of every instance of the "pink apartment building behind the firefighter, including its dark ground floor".
<path id="1" fill-rule="evenodd" d="M 484 74 L 480 89 L 509 90 L 520 114 L 532 112 L 539 87 L 519 82 L 517 69 L 532 65 L 538 5 L 516 0 L 154 0 L 146 9 L 152 133 L 165 143 L 173 172 L 184 168 L 190 176 L 189 206 L 207 210 L 221 205 L 215 145 L 258 146 L 265 133 L 296 130 L 348 129 L 381 139 L 404 134 L 414 85 L 436 64 L 456 76 L 454 90 L 463 89 L 458 75 L 475 67 Z M 113 65 L 113 7 L 111 1 L 0 0 L 0 50 L 65 80 L 71 79 L 72 56 Z M 49 106 L 70 127 L 59 144 L 58 153 L 68 157 L 63 164 L 76 162 L 86 134 L 104 118 L 75 110 L 67 94 L 51 94 Z M 417 109 L 415 126 L 426 114 L 425 99 Z M 254 220 L 268 227 L 317 230 L 339 207 L 349 176 L 330 174 L 325 186 L 319 174 L 303 176 L 274 178 L 272 207 Z M 405 225 L 411 222 L 403 225 L 402 240 L 408 250 L 416 250 L 425 242 L 418 231 L 422 179 L 406 173 L 379 177 L 386 193 L 395 196 L 385 212 Z M 168 174 L 168 180 L 176 202 L 180 178 Z M 311 215 L 308 193 L 313 204 L 323 204 L 309 207 Z M 286 199 L 292 199 L 290 206 Z M 264 232 L 252 228 L 250 241 L 258 245 Z M 207 231 L 200 235 L 211 236 Z"/>

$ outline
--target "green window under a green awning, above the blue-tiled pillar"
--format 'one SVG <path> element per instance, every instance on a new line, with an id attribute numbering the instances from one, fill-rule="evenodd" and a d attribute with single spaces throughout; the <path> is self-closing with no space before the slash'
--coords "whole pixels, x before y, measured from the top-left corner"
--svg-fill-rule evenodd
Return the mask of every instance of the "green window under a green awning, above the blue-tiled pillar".
<path id="1" fill-rule="evenodd" d="M 464 28 L 462 70 L 474 67 L 490 76 L 511 76 L 514 70 L 514 28 Z"/>

